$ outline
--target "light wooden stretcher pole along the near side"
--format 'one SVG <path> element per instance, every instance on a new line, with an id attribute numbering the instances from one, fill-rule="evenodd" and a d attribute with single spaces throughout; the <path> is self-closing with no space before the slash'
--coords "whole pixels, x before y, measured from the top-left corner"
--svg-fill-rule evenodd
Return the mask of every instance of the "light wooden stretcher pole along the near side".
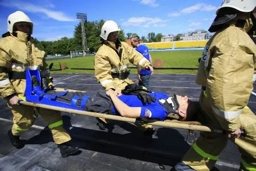
<path id="1" fill-rule="evenodd" d="M 29 101 L 19 101 L 19 104 L 29 105 L 29 106 L 32 106 L 32 107 L 51 109 L 51 110 L 55 110 L 55 111 L 75 113 L 75 114 L 79 114 L 79 115 L 101 117 L 101 118 L 104 118 L 104 119 L 126 121 L 126 122 L 129 122 L 129 123 L 135 123 L 136 122 L 135 118 L 116 116 L 116 115 L 108 115 L 108 114 L 103 114 L 103 113 L 79 111 L 79 110 L 75 110 L 75 109 L 55 107 L 55 106 L 46 105 L 46 104 L 32 103 L 32 102 L 29 102 Z M 156 121 L 156 122 L 147 123 L 147 124 L 161 126 L 161 127 L 169 127 L 169 128 L 189 129 L 189 130 L 193 130 L 193 131 L 218 132 L 218 133 L 223 132 L 221 129 L 215 129 L 215 128 L 206 127 L 204 125 L 195 125 L 195 124 L 189 124 L 189 123 L 184 124 L 184 123 L 172 123 L 172 122 L 165 122 L 165 121 Z"/>

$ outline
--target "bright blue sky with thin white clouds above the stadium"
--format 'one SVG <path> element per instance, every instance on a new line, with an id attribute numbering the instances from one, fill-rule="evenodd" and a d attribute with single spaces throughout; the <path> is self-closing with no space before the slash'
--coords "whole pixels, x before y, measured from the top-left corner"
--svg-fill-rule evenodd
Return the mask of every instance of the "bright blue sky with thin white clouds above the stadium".
<path id="1" fill-rule="evenodd" d="M 113 20 L 121 29 L 147 37 L 208 30 L 222 0 L 0 0 L 0 33 L 7 31 L 7 17 L 17 10 L 34 23 L 33 37 L 42 40 L 72 38 L 79 20 Z"/>

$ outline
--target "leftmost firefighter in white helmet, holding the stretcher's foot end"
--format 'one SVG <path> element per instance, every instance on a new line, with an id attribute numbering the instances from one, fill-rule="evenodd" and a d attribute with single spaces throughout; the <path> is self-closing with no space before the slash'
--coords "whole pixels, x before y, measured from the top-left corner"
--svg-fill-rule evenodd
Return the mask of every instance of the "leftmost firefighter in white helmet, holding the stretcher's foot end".
<path id="1" fill-rule="evenodd" d="M 14 116 L 13 127 L 8 132 L 11 144 L 18 149 L 23 148 L 24 144 L 19 136 L 32 126 L 39 113 L 47 121 L 62 157 L 76 153 L 79 148 L 68 145 L 71 137 L 63 128 L 59 111 L 17 105 L 18 100 L 26 98 L 25 70 L 40 70 L 44 82 L 48 82 L 50 71 L 47 69 L 44 51 L 40 51 L 32 42 L 33 23 L 25 13 L 16 11 L 10 14 L 7 30 L 3 34 L 4 38 L 0 39 L 0 93 L 7 100 Z"/>

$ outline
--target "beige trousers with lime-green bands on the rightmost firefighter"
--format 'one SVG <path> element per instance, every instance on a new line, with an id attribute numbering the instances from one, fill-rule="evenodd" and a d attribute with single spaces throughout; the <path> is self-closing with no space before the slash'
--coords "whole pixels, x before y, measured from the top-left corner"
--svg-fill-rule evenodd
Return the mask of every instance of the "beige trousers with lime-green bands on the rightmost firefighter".
<path id="1" fill-rule="evenodd" d="M 221 128 L 213 110 L 210 107 L 208 96 L 205 91 L 200 95 L 200 107 L 207 123 L 211 127 Z M 246 107 L 239 116 L 241 129 L 245 129 L 246 137 L 235 140 L 241 152 L 241 169 L 256 170 L 256 116 Z M 218 156 L 225 148 L 228 136 L 224 133 L 201 132 L 189 151 L 182 158 L 182 161 L 195 170 L 210 170 L 218 160 Z"/>

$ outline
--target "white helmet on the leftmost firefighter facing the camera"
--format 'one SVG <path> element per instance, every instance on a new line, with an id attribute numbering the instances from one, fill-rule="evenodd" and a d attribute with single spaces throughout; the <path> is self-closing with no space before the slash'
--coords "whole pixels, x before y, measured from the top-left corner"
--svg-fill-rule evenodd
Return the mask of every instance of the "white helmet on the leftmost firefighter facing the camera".
<path id="1" fill-rule="evenodd" d="M 22 11 L 16 11 L 13 14 L 10 14 L 7 19 L 7 30 L 13 32 L 13 26 L 17 22 L 27 22 L 30 24 L 30 34 L 33 32 L 33 23 L 31 19 Z"/>

